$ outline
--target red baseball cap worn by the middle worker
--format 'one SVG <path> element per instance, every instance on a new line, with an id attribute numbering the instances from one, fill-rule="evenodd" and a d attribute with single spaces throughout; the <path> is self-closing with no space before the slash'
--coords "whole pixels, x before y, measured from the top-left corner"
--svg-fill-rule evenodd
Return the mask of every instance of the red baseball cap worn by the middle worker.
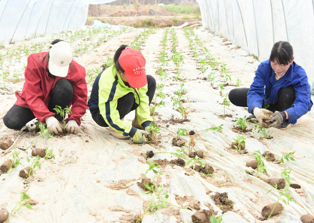
<path id="1" fill-rule="evenodd" d="M 119 64 L 124 69 L 131 87 L 140 88 L 147 84 L 146 60 L 139 50 L 127 48 L 119 56 Z"/>

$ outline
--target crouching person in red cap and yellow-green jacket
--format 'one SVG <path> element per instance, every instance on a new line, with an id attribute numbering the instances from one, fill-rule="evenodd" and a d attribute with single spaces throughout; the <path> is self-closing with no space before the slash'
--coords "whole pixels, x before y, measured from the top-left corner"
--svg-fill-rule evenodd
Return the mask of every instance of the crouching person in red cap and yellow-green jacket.
<path id="1" fill-rule="evenodd" d="M 156 81 L 146 75 L 146 60 L 139 50 L 121 45 L 113 60 L 114 64 L 102 71 L 93 84 L 87 104 L 89 111 L 98 125 L 109 127 L 110 135 L 142 143 L 153 122 L 149 104 Z M 132 123 L 124 121 L 124 116 L 133 110 Z"/>

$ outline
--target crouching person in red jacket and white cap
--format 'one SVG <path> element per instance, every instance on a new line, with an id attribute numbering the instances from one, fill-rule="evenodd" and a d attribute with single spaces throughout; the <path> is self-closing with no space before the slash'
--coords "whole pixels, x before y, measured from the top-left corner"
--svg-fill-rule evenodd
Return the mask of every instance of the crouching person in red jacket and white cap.
<path id="1" fill-rule="evenodd" d="M 72 106 L 65 128 L 76 134 L 87 109 L 85 76 L 85 68 L 72 60 L 70 45 L 59 39 L 52 41 L 49 52 L 28 56 L 22 93 L 15 94 L 17 101 L 4 115 L 4 124 L 20 130 L 36 117 L 59 134 L 63 131 L 59 123 L 62 117 L 53 109 L 56 105 L 62 109 Z"/>

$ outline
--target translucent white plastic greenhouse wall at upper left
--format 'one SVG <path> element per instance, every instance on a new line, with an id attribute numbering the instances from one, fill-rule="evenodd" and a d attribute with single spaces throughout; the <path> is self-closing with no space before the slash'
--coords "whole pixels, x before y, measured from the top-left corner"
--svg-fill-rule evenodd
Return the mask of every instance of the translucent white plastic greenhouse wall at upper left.
<path id="1" fill-rule="evenodd" d="M 111 1 L 114 0 L 0 0 L 0 43 L 82 28 L 89 3 Z"/>

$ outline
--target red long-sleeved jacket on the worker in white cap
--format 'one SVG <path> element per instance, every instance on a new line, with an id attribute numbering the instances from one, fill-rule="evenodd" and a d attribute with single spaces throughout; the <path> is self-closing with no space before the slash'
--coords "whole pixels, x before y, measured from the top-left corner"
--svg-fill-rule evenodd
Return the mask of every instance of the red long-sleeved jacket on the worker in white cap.
<path id="1" fill-rule="evenodd" d="M 15 105 L 29 108 L 40 122 L 45 122 L 47 116 L 54 116 L 55 113 L 50 112 L 48 103 L 50 100 L 49 93 L 55 83 L 62 79 L 55 79 L 48 76 L 48 52 L 40 52 L 32 54 L 27 58 L 27 66 L 25 69 L 25 83 L 22 93 L 16 92 L 17 101 Z M 80 118 L 85 114 L 87 109 L 87 84 L 85 81 L 85 68 L 72 60 L 69 67 L 67 79 L 73 86 L 73 97 L 69 107 L 72 105 L 72 114 L 66 121 L 75 120 L 80 125 Z"/>

